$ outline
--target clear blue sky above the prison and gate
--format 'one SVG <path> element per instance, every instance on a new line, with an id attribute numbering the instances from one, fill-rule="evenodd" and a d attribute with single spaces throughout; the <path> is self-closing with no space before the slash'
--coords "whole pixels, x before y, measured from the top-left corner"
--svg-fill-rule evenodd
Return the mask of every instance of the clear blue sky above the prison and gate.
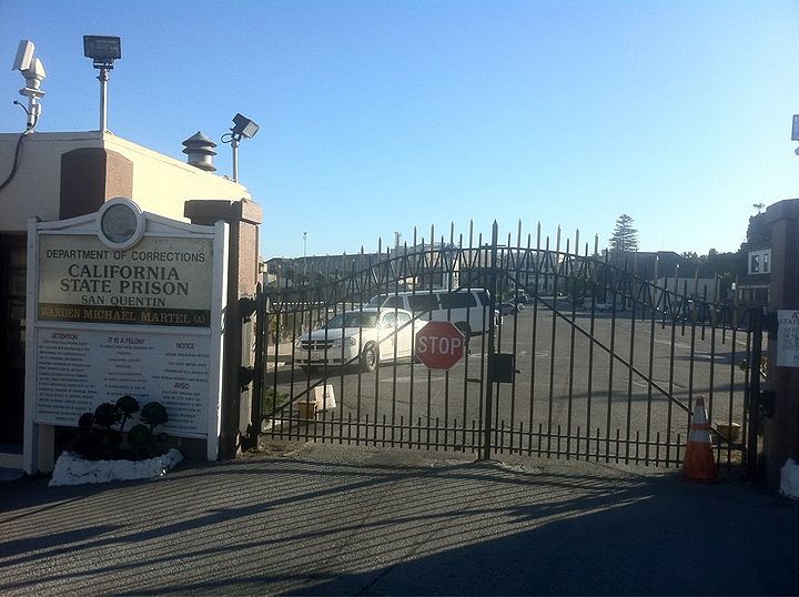
<path id="1" fill-rule="evenodd" d="M 19 40 L 48 72 L 39 130 L 82 131 L 82 36 L 119 36 L 115 134 L 183 160 L 236 112 L 261 125 L 240 180 L 266 257 L 494 220 L 605 247 L 621 213 L 641 250 L 735 251 L 752 204 L 799 196 L 798 26 L 777 0 L 0 0 L 0 131 L 24 127 Z"/>

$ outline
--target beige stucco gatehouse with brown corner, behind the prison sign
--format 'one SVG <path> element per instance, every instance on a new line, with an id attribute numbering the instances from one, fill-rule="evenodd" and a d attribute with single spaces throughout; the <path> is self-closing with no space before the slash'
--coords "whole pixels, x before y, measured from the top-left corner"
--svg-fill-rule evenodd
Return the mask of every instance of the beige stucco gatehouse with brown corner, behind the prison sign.
<path id="1" fill-rule="evenodd" d="M 251 199 L 208 165 L 110 132 L 0 133 L 0 467 L 18 466 L 22 443 L 28 219 L 74 217 L 122 195 L 144 211 L 185 220 L 189 200 Z"/>

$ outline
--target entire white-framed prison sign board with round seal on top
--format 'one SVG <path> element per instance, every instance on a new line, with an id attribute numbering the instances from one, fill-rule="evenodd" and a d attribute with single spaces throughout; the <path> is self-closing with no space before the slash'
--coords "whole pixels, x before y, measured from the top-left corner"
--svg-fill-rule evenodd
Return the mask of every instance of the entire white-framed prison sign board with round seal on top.
<path id="1" fill-rule="evenodd" d="M 39 433 L 77 426 L 125 394 L 163 404 L 164 431 L 206 439 L 216 458 L 227 230 L 142 212 L 128 198 L 30 221 L 26 470 L 36 472 Z"/>

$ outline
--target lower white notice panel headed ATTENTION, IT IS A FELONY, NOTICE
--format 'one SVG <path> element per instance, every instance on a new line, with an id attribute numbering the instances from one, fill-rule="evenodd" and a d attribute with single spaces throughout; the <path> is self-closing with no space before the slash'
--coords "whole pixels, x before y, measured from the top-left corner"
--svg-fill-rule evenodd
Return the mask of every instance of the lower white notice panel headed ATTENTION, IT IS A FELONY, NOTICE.
<path id="1" fill-rule="evenodd" d="M 204 437 L 211 392 L 209 336 L 81 328 L 47 330 L 37 338 L 37 421 L 74 426 L 83 413 L 130 394 L 156 401 L 174 436 Z"/>

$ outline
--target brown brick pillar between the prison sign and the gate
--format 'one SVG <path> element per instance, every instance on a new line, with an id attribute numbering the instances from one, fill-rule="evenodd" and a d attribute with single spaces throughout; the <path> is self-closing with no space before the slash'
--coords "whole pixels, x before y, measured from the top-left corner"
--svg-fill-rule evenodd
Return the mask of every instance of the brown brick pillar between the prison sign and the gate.
<path id="1" fill-rule="evenodd" d="M 263 212 L 247 201 L 186 201 L 183 214 L 192 224 L 212 225 L 222 220 L 230 224 L 227 263 L 227 308 L 225 312 L 224 357 L 222 360 L 222 431 L 220 457 L 234 458 L 241 436 L 250 429 L 252 393 L 242 388 L 240 368 L 255 360 L 252 326 L 244 325 L 239 298 L 253 296 L 257 284 L 259 224 Z"/>

